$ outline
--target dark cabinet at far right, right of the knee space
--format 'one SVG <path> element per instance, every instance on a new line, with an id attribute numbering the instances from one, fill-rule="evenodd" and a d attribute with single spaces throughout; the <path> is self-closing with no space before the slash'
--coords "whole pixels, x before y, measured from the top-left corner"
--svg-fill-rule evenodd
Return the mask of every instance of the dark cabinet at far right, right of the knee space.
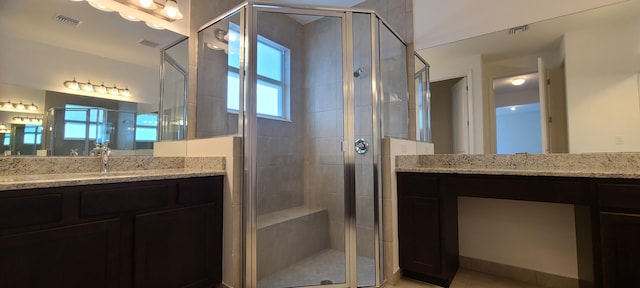
<path id="1" fill-rule="evenodd" d="M 640 287 L 640 183 L 597 185 L 604 287 Z"/>

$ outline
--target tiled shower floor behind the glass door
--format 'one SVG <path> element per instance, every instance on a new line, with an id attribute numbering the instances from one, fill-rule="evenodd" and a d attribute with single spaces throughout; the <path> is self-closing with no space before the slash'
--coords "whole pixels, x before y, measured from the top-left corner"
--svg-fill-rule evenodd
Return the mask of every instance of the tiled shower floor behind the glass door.
<path id="1" fill-rule="evenodd" d="M 375 262 L 371 258 L 358 257 L 358 286 L 370 286 L 375 282 Z M 298 263 L 264 277 L 258 288 L 283 288 L 320 285 L 322 281 L 345 282 L 344 252 L 327 249 L 313 254 Z"/>

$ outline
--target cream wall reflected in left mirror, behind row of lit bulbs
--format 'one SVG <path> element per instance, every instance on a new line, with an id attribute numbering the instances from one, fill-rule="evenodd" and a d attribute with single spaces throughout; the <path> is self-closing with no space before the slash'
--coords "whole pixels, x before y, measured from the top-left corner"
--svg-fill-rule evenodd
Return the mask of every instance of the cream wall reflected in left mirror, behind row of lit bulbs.
<path id="1" fill-rule="evenodd" d="M 104 81 L 106 86 L 115 84 L 119 88 L 128 87 L 133 94 L 129 98 L 111 95 L 104 95 L 101 98 L 156 105 L 159 102 L 159 68 L 152 69 L 4 36 L 0 37 L 0 51 L 2 51 L 0 63 L 5 68 L 3 73 L 0 73 L 0 83 L 95 97 L 96 93 L 73 91 L 64 87 L 64 81 L 77 77 L 76 80 L 79 82 L 90 80 L 93 84 L 100 84 Z M 158 54 L 158 63 L 159 59 Z M 11 67 L 11 70 L 9 71 L 7 67 Z M 34 69 L 34 67 L 38 68 Z"/>

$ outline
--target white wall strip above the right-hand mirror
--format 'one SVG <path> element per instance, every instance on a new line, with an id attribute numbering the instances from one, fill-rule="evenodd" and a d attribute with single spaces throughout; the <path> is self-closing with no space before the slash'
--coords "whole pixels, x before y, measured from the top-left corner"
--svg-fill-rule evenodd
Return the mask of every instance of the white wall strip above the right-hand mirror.
<path id="1" fill-rule="evenodd" d="M 415 50 L 624 0 L 414 0 Z"/>

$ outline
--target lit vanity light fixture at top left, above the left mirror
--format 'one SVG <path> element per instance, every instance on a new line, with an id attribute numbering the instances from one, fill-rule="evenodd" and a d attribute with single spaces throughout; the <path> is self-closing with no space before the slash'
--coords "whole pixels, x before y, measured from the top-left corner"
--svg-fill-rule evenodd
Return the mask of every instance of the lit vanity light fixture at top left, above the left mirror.
<path id="1" fill-rule="evenodd" d="M 80 2 L 83 0 L 73 0 L 73 1 Z M 128 13 L 127 11 L 120 11 L 120 10 L 125 10 L 125 9 L 122 9 L 121 6 L 109 5 L 108 2 L 105 2 L 105 0 L 86 0 L 86 1 L 89 3 L 89 5 L 91 5 L 92 7 L 98 10 L 105 11 L 105 12 L 116 11 L 120 14 L 120 16 L 122 16 L 122 18 L 126 20 L 142 21 L 142 19 L 140 19 L 140 17 L 136 15 Z M 155 0 L 111 0 L 111 1 L 118 2 L 129 8 L 144 12 L 146 14 L 149 14 L 151 16 L 154 16 L 156 18 L 159 18 L 168 22 L 173 22 L 183 18 L 182 12 L 180 12 L 180 8 L 178 7 L 178 3 L 176 2 L 176 0 L 162 0 L 162 1 L 165 1 L 164 5 L 155 2 Z M 157 29 L 157 30 L 164 29 L 162 25 L 158 23 L 153 23 L 153 22 L 154 22 L 153 20 L 151 21 L 145 20 L 145 23 L 150 28 Z"/>

